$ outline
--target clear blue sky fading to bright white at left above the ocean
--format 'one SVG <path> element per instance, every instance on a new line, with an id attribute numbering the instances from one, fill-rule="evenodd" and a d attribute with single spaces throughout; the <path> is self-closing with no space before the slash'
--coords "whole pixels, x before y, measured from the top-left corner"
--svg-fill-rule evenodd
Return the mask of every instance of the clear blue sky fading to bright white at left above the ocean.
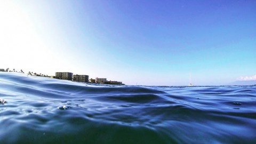
<path id="1" fill-rule="evenodd" d="M 0 1 L 0 68 L 129 85 L 256 74 L 256 1 Z"/>

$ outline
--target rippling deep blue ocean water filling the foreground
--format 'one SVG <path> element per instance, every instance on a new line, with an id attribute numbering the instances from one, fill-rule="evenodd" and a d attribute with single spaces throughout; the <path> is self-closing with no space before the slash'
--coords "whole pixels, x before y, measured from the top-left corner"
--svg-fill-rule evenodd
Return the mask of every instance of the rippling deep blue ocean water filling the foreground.
<path id="1" fill-rule="evenodd" d="M 0 72 L 0 143 L 255 143 L 256 86 L 116 86 Z"/>

